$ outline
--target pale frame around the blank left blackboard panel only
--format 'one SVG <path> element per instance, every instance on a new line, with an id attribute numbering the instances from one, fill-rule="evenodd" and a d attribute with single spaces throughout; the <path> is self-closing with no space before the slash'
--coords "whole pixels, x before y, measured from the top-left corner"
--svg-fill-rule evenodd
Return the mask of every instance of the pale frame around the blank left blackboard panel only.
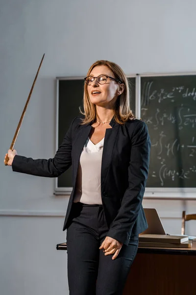
<path id="1" fill-rule="evenodd" d="M 130 75 L 126 75 L 127 78 L 135 78 L 135 116 L 136 118 L 139 118 L 137 113 L 138 110 L 140 108 L 140 105 L 137 105 L 138 100 L 136 99 L 137 97 L 137 93 L 138 93 L 138 89 L 136 88 L 136 85 L 138 85 L 137 83 L 137 79 L 138 76 L 136 74 L 130 74 Z M 56 77 L 56 123 L 55 123 L 55 147 L 56 150 L 59 147 L 59 81 L 62 80 L 83 80 L 84 77 L 81 76 L 76 76 L 76 77 Z M 69 126 L 67 126 L 68 128 Z M 55 195 L 70 195 L 72 192 L 72 187 L 59 187 L 58 186 L 58 177 L 55 178 L 55 188 L 54 188 L 54 194 Z"/>

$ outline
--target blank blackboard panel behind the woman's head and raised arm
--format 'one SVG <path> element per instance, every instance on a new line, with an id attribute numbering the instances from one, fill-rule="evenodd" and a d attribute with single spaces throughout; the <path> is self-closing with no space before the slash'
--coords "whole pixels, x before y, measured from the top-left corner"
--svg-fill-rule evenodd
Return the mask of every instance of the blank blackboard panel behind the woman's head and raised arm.
<path id="1" fill-rule="evenodd" d="M 130 89 L 130 106 L 135 114 L 135 77 L 127 77 Z M 70 123 L 79 113 L 79 106 L 83 105 L 84 79 L 82 78 L 57 78 L 57 146 L 63 141 Z M 57 147 L 57 148 L 58 148 Z M 70 192 L 72 190 L 72 167 L 57 178 L 55 191 Z M 66 188 L 66 189 L 63 189 Z"/>

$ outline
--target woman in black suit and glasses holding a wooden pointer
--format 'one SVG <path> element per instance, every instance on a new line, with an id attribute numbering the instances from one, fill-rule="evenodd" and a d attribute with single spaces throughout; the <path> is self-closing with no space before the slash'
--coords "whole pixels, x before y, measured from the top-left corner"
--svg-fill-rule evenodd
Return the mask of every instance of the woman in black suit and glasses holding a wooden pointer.
<path id="1" fill-rule="evenodd" d="M 121 295 L 147 229 L 142 199 L 150 139 L 147 125 L 129 108 L 123 70 L 98 60 L 84 86 L 84 118 L 74 118 L 52 159 L 8 150 L 13 171 L 58 177 L 73 165 L 67 229 L 70 295 Z"/>

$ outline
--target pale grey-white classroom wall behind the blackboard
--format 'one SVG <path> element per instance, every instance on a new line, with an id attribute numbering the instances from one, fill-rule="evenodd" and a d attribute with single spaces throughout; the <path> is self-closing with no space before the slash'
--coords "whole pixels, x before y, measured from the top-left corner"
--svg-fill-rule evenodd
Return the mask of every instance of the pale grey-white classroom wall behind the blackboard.
<path id="1" fill-rule="evenodd" d="M 15 145 L 33 158 L 55 153 L 56 76 L 85 76 L 97 59 L 117 62 L 126 74 L 195 71 L 195 11 L 195 0 L 0 0 L 2 295 L 68 294 L 66 252 L 55 250 L 65 240 L 68 197 L 53 195 L 54 179 L 3 165 L 43 53 Z M 196 201 L 145 200 L 144 207 L 156 207 L 167 232 L 180 233 L 181 211 L 196 212 Z M 187 229 L 193 235 L 195 227 Z"/>

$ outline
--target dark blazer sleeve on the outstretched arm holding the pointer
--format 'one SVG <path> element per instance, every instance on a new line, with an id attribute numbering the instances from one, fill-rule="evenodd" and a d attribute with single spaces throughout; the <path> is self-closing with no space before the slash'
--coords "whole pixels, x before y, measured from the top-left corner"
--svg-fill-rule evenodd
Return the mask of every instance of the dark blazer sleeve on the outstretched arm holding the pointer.
<path id="1" fill-rule="evenodd" d="M 75 117 L 58 148 L 54 158 L 32 159 L 15 155 L 12 162 L 12 170 L 15 172 L 42 176 L 58 177 L 72 165 L 72 128 Z"/>

